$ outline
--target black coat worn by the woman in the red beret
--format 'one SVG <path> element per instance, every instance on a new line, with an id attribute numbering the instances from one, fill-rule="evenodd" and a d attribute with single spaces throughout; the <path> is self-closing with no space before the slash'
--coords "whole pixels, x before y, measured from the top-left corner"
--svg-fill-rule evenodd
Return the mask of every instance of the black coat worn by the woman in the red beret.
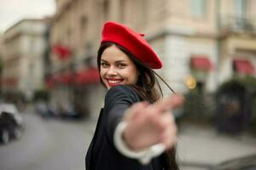
<path id="1" fill-rule="evenodd" d="M 154 158 L 147 166 L 125 157 L 113 145 L 113 133 L 127 108 L 141 101 L 139 95 L 125 85 L 108 90 L 105 105 L 96 125 L 85 158 L 86 170 L 162 170 L 163 155 Z"/>

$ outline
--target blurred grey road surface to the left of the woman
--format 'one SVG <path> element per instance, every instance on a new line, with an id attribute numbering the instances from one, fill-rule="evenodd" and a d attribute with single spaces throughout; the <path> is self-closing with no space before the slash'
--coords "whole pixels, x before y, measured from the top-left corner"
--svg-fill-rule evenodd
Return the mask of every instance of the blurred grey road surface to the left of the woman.
<path id="1" fill-rule="evenodd" d="M 0 145 L 1 170 L 82 170 L 94 122 L 55 120 L 23 113 L 24 133 Z"/>

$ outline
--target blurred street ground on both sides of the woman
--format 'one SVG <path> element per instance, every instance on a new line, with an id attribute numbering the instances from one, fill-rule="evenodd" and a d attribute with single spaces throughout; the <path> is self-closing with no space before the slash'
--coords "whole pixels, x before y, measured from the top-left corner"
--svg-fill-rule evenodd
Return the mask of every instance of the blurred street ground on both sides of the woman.
<path id="1" fill-rule="evenodd" d="M 22 137 L 0 145 L 1 170 L 83 170 L 84 156 L 96 117 L 84 120 L 48 119 L 23 113 Z M 177 144 L 181 169 L 207 169 L 218 162 L 256 153 L 256 139 L 219 135 L 212 127 L 183 125 Z"/>

